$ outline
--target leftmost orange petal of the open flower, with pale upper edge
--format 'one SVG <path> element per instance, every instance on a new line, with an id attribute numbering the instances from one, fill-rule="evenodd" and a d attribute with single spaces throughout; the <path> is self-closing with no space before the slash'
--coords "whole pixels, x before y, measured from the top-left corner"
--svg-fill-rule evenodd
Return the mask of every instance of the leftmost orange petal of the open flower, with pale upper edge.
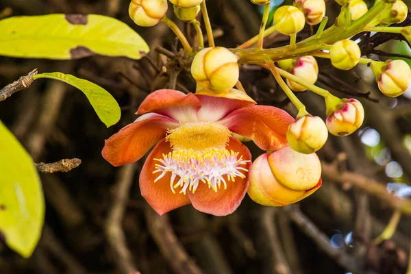
<path id="1" fill-rule="evenodd" d="M 166 136 L 167 129 L 178 126 L 179 123 L 169 117 L 145 114 L 105 140 L 101 154 L 113 166 L 136 162 Z"/>

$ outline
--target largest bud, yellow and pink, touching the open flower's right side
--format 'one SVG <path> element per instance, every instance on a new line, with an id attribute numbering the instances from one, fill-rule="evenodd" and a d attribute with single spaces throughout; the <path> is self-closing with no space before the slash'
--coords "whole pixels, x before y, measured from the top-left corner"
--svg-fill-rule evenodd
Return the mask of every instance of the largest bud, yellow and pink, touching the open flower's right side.
<path id="1" fill-rule="evenodd" d="M 248 195 L 264 206 L 286 206 L 308 197 L 320 186 L 318 156 L 286 146 L 253 162 Z"/>

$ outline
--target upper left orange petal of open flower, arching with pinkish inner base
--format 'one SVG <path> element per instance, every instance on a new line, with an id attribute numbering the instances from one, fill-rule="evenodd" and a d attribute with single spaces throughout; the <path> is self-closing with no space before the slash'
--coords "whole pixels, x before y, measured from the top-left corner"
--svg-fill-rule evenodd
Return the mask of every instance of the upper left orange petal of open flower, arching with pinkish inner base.
<path id="1" fill-rule="evenodd" d="M 155 112 L 186 123 L 198 121 L 197 110 L 200 107 L 199 99 L 192 93 L 186 95 L 177 90 L 157 90 L 146 97 L 137 114 Z"/>

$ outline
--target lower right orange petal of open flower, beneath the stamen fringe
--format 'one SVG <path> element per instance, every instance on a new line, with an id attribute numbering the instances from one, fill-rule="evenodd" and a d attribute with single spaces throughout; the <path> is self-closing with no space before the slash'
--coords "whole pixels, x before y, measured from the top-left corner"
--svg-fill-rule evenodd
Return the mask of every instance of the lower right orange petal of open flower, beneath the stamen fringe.
<path id="1" fill-rule="evenodd" d="M 251 160 L 250 151 L 234 137 L 230 138 L 226 149 L 229 151 L 238 151 L 240 152 L 239 155 L 242 155 L 244 160 Z M 250 170 L 251 162 L 249 162 L 245 168 Z M 201 212 L 213 214 L 215 216 L 231 214 L 238 208 L 238 206 L 240 206 L 240 203 L 247 192 L 250 179 L 249 172 L 245 175 L 246 177 L 244 179 L 236 177 L 235 182 L 227 181 L 227 178 L 225 178 L 227 181 L 227 189 L 225 190 L 222 186 L 218 192 L 214 192 L 214 190 L 208 188 L 207 184 L 200 183 L 194 194 L 188 192 L 192 206 Z"/>

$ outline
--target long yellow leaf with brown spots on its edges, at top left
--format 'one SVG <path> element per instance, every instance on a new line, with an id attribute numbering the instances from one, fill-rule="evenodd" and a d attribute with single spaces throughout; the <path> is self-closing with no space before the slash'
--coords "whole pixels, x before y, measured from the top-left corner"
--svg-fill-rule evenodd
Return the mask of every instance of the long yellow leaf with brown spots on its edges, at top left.
<path id="1" fill-rule="evenodd" d="M 71 60 L 90 55 L 140 59 L 149 47 L 134 30 L 96 14 L 16 16 L 0 21 L 0 55 Z"/>

